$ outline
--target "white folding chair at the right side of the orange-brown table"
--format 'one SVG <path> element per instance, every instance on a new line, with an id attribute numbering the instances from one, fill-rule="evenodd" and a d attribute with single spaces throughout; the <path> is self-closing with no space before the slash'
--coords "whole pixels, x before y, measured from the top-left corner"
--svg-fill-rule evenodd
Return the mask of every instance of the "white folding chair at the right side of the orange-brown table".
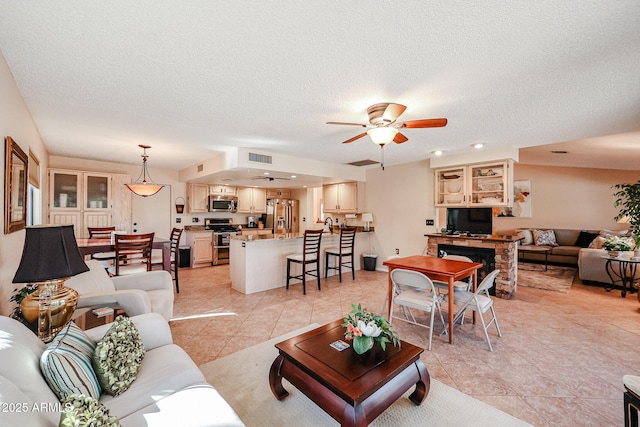
<path id="1" fill-rule="evenodd" d="M 489 345 L 489 351 L 493 351 L 493 346 L 491 346 L 491 340 L 489 339 L 489 334 L 487 333 L 487 329 L 489 329 L 491 323 L 496 324 L 498 336 L 502 336 L 502 333 L 500 332 L 500 326 L 498 325 L 498 318 L 496 317 L 496 311 L 493 308 L 493 300 L 491 299 L 491 295 L 489 295 L 489 289 L 491 289 L 491 287 L 493 286 L 499 273 L 500 270 L 493 270 L 491 273 L 487 274 L 485 278 L 482 279 L 480 285 L 478 285 L 478 289 L 476 290 L 476 292 L 464 290 L 453 292 L 453 303 L 460 307 L 458 312 L 453 317 L 453 323 L 455 324 L 458 320 L 460 320 L 460 324 L 463 324 L 464 315 L 467 310 L 477 312 L 480 317 L 480 322 L 482 323 L 484 336 L 487 339 L 487 344 Z M 446 298 L 449 298 L 449 295 L 445 295 L 445 299 Z M 491 311 L 491 320 L 489 320 L 488 323 L 486 323 L 484 320 L 484 313 L 486 313 L 487 311 Z"/>

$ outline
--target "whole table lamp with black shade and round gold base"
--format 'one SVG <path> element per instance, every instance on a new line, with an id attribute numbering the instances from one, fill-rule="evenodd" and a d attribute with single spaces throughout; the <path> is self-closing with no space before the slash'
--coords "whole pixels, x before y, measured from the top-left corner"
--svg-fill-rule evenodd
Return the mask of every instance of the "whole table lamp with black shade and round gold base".
<path id="1" fill-rule="evenodd" d="M 71 320 L 78 293 L 64 281 L 89 271 L 85 264 L 73 225 L 27 227 L 22 259 L 13 283 L 35 283 L 38 289 L 20 303 L 22 316 L 37 321 L 38 338 L 50 342 Z"/>

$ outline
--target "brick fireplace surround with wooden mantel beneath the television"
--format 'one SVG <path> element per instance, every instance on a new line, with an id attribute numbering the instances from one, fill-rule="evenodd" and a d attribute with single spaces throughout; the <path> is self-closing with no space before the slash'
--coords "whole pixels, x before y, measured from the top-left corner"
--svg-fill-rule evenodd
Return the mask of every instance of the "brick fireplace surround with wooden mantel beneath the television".
<path id="1" fill-rule="evenodd" d="M 427 237 L 427 255 L 438 256 L 438 246 L 459 246 L 465 249 L 493 249 L 495 268 L 500 270 L 496 278 L 497 297 L 511 299 L 518 288 L 518 260 L 516 243 L 519 236 L 491 235 L 466 236 L 450 234 L 425 234 Z"/>

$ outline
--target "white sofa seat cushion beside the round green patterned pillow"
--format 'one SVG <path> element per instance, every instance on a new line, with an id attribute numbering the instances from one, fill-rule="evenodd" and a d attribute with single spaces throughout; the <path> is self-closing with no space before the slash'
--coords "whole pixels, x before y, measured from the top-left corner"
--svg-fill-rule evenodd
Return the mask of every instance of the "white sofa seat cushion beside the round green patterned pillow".
<path id="1" fill-rule="evenodd" d="M 100 401 L 122 420 L 127 415 L 194 384 L 205 384 L 204 375 L 189 355 L 175 344 L 145 354 L 138 378 L 119 396 L 103 394 Z M 135 404 L 132 404 L 135 402 Z"/>

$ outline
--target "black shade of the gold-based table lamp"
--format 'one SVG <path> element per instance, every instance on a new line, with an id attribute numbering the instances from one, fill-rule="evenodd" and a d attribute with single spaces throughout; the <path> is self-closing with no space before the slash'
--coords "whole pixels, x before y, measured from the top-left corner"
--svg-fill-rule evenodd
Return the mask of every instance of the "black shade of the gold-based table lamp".
<path id="1" fill-rule="evenodd" d="M 63 279 L 89 271 L 73 225 L 46 225 L 26 228 L 22 259 L 13 283 Z"/>

